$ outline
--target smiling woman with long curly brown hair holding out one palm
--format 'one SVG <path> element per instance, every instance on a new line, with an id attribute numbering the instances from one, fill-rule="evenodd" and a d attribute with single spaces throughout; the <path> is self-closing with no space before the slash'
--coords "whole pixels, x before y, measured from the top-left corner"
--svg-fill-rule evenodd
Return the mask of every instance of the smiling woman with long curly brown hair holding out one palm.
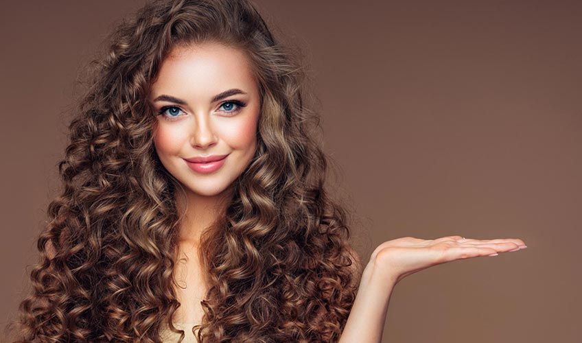
<path id="1" fill-rule="evenodd" d="M 405 276 L 525 247 L 405 237 L 362 268 L 302 64 L 246 0 L 150 3 L 109 41 L 14 342 L 380 342 Z"/>

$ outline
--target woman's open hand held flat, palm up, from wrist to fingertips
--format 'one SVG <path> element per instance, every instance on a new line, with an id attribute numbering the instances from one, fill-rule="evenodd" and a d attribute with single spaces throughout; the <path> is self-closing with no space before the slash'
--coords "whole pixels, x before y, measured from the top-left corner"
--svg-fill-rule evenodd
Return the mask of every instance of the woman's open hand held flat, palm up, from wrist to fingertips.
<path id="1" fill-rule="evenodd" d="M 368 273 L 394 285 L 404 277 L 441 263 L 496 255 L 527 248 L 521 239 L 470 239 L 447 236 L 439 239 L 402 237 L 380 244 L 370 257 Z M 372 265 L 371 265 L 372 264 Z M 366 274 L 364 270 L 364 274 Z M 380 274 L 380 275 L 378 275 Z M 364 276 L 364 275 L 362 275 Z M 369 275 L 369 277 L 371 277 Z"/>

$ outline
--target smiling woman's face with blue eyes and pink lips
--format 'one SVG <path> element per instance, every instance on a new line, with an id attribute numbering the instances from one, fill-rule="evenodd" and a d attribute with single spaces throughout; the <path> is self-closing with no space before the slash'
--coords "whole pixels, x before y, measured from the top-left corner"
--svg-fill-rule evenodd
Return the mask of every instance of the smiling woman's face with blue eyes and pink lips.
<path id="1" fill-rule="evenodd" d="M 162 63 L 150 101 L 161 163 L 197 196 L 217 196 L 251 162 L 260 98 L 242 51 L 204 43 L 178 47 Z M 187 161 L 218 159 L 213 163 Z"/>

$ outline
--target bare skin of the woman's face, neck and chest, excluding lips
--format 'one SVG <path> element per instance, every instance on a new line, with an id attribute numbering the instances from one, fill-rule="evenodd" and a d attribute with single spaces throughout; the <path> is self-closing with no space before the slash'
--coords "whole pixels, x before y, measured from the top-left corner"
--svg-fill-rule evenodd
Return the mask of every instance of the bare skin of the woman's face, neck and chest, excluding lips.
<path id="1" fill-rule="evenodd" d="M 244 94 L 212 101 L 233 88 Z M 156 100 L 161 95 L 181 101 Z M 200 234 L 224 209 L 230 186 L 255 154 L 259 88 L 242 51 L 205 43 L 171 51 L 152 84 L 150 102 L 156 113 L 162 112 L 154 132 L 156 153 L 187 191 L 187 203 L 177 203 L 178 210 L 185 211 L 185 220 L 178 242 L 178 256 L 183 259 L 175 270 L 181 307 L 174 322 L 178 327 L 180 323 L 194 325 L 202 319 L 200 301 L 208 289 L 198 255 Z M 224 154 L 228 154 L 224 165 L 210 174 L 194 171 L 184 160 Z"/>

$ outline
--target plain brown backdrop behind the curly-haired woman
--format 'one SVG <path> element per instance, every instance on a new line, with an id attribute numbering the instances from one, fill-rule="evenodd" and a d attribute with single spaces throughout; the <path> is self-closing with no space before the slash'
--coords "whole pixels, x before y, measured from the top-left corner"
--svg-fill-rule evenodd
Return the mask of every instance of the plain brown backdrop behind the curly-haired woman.
<path id="1" fill-rule="evenodd" d="M 256 2 L 306 49 L 364 262 L 408 235 L 528 245 L 408 276 L 384 342 L 580 342 L 581 3 Z M 73 82 L 142 3 L 2 3 L 2 322 L 60 187 Z"/>

